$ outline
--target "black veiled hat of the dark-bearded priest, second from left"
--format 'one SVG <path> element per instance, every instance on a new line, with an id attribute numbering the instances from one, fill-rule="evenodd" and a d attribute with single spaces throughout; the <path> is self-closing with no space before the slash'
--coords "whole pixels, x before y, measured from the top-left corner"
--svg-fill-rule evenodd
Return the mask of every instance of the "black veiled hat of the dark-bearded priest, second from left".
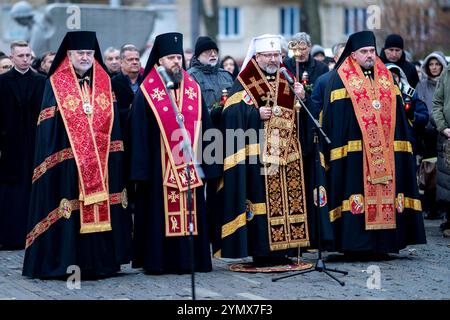
<path id="1" fill-rule="evenodd" d="M 186 69 L 183 54 L 183 35 L 179 32 L 168 32 L 156 36 L 145 66 L 144 78 L 150 73 L 153 66 L 158 64 L 159 58 L 171 54 L 181 54 L 183 56 L 183 69 Z"/>

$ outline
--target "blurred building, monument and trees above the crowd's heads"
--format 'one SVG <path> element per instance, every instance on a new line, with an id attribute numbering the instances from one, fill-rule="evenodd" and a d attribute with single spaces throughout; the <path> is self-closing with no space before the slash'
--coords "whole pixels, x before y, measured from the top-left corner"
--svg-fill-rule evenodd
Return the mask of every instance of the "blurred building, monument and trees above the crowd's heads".
<path id="1" fill-rule="evenodd" d="M 221 55 L 244 58 L 252 37 L 263 33 L 311 35 L 325 48 L 349 34 L 372 29 L 378 49 L 386 35 L 405 39 L 410 59 L 428 52 L 450 55 L 450 0 L 0 0 L 0 51 L 25 39 L 37 56 L 56 51 L 70 30 L 97 31 L 101 49 L 132 43 L 145 60 L 154 37 L 179 31 L 184 47 L 193 48 L 199 35 L 219 44 Z"/>

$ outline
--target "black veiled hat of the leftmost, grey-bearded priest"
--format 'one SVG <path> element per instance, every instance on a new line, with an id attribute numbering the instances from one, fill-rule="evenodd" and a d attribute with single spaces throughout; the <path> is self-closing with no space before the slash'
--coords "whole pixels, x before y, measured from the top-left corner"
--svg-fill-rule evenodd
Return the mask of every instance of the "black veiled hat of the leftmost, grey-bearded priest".
<path id="1" fill-rule="evenodd" d="M 71 31 L 67 32 L 58 51 L 56 52 L 55 59 L 48 71 L 48 77 L 50 77 L 59 65 L 63 62 L 67 56 L 67 50 L 95 50 L 94 58 L 106 71 L 106 66 L 103 64 L 102 53 L 100 46 L 98 45 L 97 36 L 93 31 Z"/>

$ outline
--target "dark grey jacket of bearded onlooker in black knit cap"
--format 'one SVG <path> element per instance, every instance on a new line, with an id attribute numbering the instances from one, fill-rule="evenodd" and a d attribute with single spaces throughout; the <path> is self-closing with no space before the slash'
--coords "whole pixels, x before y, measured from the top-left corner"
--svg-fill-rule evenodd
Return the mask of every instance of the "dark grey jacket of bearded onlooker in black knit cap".
<path id="1" fill-rule="evenodd" d="M 214 103 L 220 102 L 222 90 L 230 90 L 233 85 L 231 74 L 219 65 L 219 62 L 214 67 L 204 65 L 198 61 L 197 57 L 193 57 L 191 68 L 188 70 L 188 73 L 200 85 L 202 97 L 210 112 Z"/>

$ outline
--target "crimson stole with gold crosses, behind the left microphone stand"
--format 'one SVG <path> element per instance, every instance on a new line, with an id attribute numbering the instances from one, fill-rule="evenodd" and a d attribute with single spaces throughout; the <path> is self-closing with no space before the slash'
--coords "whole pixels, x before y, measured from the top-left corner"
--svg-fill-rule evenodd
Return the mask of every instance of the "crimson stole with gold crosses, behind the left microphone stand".
<path id="1" fill-rule="evenodd" d="M 193 150 L 201 130 L 202 105 L 201 91 L 198 84 L 183 70 L 183 80 L 180 83 L 180 97 L 177 101 L 178 113 L 172 108 L 169 94 L 164 83 L 156 71 L 156 66 L 150 71 L 141 84 L 148 104 L 158 122 L 161 131 L 161 163 L 163 174 L 163 193 L 166 236 L 189 235 L 189 208 L 188 208 L 188 176 L 187 162 L 183 156 L 180 142 L 183 140 L 177 123 L 177 117 L 182 117 L 184 126 L 191 140 Z M 176 100 L 176 99 L 174 99 Z M 197 234 L 196 190 L 203 185 L 202 180 L 190 160 L 190 184 L 192 189 L 193 234 Z"/>

